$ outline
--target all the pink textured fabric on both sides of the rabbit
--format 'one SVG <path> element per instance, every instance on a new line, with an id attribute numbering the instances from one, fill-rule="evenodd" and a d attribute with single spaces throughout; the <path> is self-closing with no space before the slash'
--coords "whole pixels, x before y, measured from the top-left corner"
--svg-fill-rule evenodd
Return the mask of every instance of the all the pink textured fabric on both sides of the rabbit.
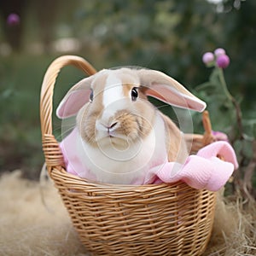
<path id="1" fill-rule="evenodd" d="M 96 177 L 86 166 L 83 166 L 76 154 L 77 132 L 74 129 L 60 144 L 67 172 L 95 180 Z M 218 155 L 223 156 L 224 160 L 219 160 Z M 217 191 L 224 186 L 237 167 L 234 149 L 229 143 L 219 141 L 201 148 L 196 155 L 189 155 L 183 165 L 166 162 L 161 166 L 154 166 L 145 174 L 143 184 L 183 181 L 195 189 Z M 137 183 L 137 180 L 133 183 Z"/>

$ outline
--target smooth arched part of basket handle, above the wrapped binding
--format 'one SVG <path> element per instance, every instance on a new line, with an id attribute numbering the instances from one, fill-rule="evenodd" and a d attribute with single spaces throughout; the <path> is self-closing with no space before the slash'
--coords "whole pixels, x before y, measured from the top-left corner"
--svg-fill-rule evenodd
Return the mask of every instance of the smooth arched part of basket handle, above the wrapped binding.
<path id="1" fill-rule="evenodd" d="M 40 100 L 40 119 L 43 137 L 44 134 L 52 135 L 52 108 L 55 80 L 60 73 L 61 68 L 68 65 L 78 67 L 83 70 L 84 73 L 89 75 L 96 73 L 96 69 L 92 67 L 88 61 L 85 61 L 83 58 L 75 55 L 63 55 L 55 59 L 55 61 L 49 65 L 44 75 Z"/>

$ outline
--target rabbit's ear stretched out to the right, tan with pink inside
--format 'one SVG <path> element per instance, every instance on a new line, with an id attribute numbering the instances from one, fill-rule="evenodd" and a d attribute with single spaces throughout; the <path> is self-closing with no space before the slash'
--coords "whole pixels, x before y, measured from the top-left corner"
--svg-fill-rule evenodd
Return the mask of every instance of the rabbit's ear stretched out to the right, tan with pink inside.
<path id="1" fill-rule="evenodd" d="M 202 112 L 207 104 L 185 89 L 175 79 L 156 70 L 137 70 L 141 85 L 146 87 L 147 96 L 153 96 L 162 102 L 179 108 L 189 108 Z"/>

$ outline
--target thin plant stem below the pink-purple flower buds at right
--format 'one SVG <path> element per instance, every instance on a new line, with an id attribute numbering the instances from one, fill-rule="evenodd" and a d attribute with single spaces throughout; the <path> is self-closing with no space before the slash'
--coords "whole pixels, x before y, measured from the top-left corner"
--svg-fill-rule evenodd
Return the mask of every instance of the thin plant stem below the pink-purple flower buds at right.
<path id="1" fill-rule="evenodd" d="M 218 68 L 218 75 L 219 75 L 219 80 L 220 84 L 222 85 L 224 89 L 224 94 L 227 96 L 227 98 L 232 102 L 236 109 L 236 120 L 237 120 L 237 125 L 238 125 L 238 131 L 239 131 L 239 139 L 244 139 L 243 136 L 243 127 L 242 127 L 242 122 L 241 122 L 241 108 L 238 102 L 236 102 L 236 99 L 230 94 L 230 91 L 228 90 L 226 81 L 224 79 L 224 72 L 223 69 L 220 67 Z"/>

